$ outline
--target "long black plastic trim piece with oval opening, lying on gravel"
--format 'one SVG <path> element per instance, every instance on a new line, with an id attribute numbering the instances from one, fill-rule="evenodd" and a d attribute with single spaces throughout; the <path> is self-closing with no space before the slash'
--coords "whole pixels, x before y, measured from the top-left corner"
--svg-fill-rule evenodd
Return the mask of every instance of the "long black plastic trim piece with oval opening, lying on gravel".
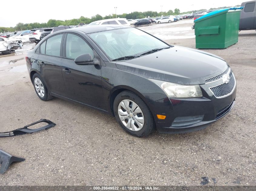
<path id="1" fill-rule="evenodd" d="M 37 128 L 37 129 L 29 129 L 28 128 L 28 127 L 33 126 L 33 125 L 38 124 L 38 123 L 48 123 L 48 124 L 43 126 L 43 127 Z M 52 121 L 50 121 L 48 119 L 41 119 L 41 120 L 39 120 L 35 123 L 31 123 L 27 126 L 24 126 L 22 128 L 19 128 L 19 129 L 13 130 L 13 131 L 0 132 L 0 138 L 1 137 L 13 137 L 13 136 L 17 136 L 17 135 L 24 135 L 24 134 L 27 134 L 27 133 L 33 133 L 33 132 L 41 131 L 43 129 L 47 130 L 47 129 L 50 129 L 50 128 L 54 127 L 55 125 L 56 125 L 55 123 L 53 123 Z"/>

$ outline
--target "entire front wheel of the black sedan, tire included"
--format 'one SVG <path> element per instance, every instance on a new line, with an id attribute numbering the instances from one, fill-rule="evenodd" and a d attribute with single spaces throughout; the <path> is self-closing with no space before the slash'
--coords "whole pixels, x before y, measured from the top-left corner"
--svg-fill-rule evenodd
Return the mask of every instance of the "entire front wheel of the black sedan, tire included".
<path id="1" fill-rule="evenodd" d="M 134 92 L 122 91 L 114 100 L 114 114 L 120 126 L 131 135 L 148 136 L 154 129 L 154 118 L 146 103 Z"/>

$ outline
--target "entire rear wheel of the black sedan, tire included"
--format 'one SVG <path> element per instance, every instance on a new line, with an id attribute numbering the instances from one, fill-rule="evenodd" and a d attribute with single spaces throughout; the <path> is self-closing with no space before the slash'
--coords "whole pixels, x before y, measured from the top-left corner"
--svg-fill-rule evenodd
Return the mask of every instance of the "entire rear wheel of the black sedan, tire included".
<path id="1" fill-rule="evenodd" d="M 42 80 L 42 78 L 37 73 L 35 73 L 33 75 L 33 86 L 35 88 L 35 92 L 36 92 L 37 96 L 41 100 L 48 101 L 53 98 L 53 96 L 51 96 L 50 93 L 48 92 L 45 82 Z"/>

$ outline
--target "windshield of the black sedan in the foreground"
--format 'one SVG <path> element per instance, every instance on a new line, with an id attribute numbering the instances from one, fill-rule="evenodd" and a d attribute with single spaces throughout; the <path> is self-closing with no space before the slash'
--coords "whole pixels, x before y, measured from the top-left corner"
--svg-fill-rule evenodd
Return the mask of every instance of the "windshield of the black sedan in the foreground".
<path id="1" fill-rule="evenodd" d="M 88 35 L 111 60 L 124 56 L 139 56 L 152 49 L 169 47 L 161 40 L 136 28 L 108 30 Z"/>

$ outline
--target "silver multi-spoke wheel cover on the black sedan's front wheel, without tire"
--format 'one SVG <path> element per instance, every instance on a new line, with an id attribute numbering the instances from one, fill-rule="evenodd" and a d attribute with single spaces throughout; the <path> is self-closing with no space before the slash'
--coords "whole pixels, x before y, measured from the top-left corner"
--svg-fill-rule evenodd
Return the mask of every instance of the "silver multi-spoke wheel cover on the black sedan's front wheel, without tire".
<path id="1" fill-rule="evenodd" d="M 131 100 L 122 100 L 118 105 L 118 116 L 123 125 L 131 131 L 139 131 L 144 125 L 141 108 Z"/>

